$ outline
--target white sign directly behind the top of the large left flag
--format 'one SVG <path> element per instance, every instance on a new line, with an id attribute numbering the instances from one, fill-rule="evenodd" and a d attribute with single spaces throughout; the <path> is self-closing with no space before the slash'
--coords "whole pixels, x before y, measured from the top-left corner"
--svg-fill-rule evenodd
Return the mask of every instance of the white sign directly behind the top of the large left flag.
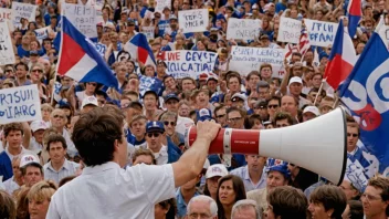
<path id="1" fill-rule="evenodd" d="M 65 3 L 64 14 L 85 36 L 97 38 L 96 9 L 94 7 Z"/>

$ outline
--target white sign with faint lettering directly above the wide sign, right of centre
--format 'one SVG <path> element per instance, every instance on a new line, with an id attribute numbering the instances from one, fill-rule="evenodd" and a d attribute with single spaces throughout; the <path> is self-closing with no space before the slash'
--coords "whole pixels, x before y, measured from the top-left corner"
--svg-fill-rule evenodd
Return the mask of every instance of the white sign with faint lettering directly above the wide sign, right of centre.
<path id="1" fill-rule="evenodd" d="M 227 40 L 254 40 L 260 35 L 262 21 L 259 19 L 230 18 L 227 28 Z"/>

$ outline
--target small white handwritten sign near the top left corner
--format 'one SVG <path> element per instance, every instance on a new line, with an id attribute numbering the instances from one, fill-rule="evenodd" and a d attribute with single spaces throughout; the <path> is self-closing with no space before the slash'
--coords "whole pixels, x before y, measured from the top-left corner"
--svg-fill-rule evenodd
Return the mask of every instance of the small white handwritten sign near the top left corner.
<path id="1" fill-rule="evenodd" d="M 20 20 L 27 19 L 28 21 L 35 21 L 36 6 L 30 3 L 19 3 L 12 1 L 12 22 L 13 28 L 21 28 Z"/>

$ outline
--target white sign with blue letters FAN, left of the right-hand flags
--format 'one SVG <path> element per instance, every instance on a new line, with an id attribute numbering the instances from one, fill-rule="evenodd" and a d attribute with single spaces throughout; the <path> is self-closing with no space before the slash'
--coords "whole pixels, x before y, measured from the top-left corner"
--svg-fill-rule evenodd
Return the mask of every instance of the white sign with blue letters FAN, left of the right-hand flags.
<path id="1" fill-rule="evenodd" d="M 304 19 L 304 22 L 308 31 L 311 45 L 326 48 L 334 44 L 336 31 L 338 30 L 337 23 L 309 19 Z"/>

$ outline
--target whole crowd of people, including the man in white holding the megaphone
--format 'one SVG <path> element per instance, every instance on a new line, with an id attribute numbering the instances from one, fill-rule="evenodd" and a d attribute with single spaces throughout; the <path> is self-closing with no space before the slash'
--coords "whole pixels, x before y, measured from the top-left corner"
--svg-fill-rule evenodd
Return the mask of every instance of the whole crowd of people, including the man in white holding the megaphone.
<path id="1" fill-rule="evenodd" d="M 12 2 L 0 4 L 11 8 Z M 22 19 L 12 29 L 17 62 L 0 67 L 0 85 L 6 90 L 36 84 L 42 118 L 0 126 L 0 218 L 389 217 L 389 179 L 377 174 L 379 161 L 358 144 L 359 124 L 351 116 L 349 161 L 338 186 L 293 160 L 208 154 L 220 128 L 283 128 L 337 107 L 337 94 L 320 88 L 332 45 L 293 51 L 282 79 L 274 77 L 269 63 L 243 76 L 229 70 L 229 61 L 233 45 L 284 49 L 286 43 L 276 41 L 281 17 L 344 20 L 347 25 L 347 1 L 172 0 L 171 8 L 160 12 L 155 10 L 160 1 L 105 0 L 98 36 L 91 42 L 119 87 L 56 74 L 61 7 L 95 7 L 101 1 L 20 2 L 38 4 L 35 19 Z M 387 4 L 361 1 L 362 19 L 353 36 L 357 54 Z M 181 32 L 178 11 L 191 9 L 208 9 L 208 31 Z M 229 18 L 260 19 L 260 35 L 227 40 Z M 35 31 L 45 27 L 48 38 L 39 40 Z M 149 39 L 155 64 L 125 51 L 146 27 L 155 27 Z M 164 52 L 176 50 L 217 53 L 212 74 L 170 75 Z M 140 91 L 145 77 L 155 84 Z M 197 138 L 189 147 L 185 136 L 191 126 L 197 126 Z M 296 138 L 304 140 L 304 135 Z"/>

